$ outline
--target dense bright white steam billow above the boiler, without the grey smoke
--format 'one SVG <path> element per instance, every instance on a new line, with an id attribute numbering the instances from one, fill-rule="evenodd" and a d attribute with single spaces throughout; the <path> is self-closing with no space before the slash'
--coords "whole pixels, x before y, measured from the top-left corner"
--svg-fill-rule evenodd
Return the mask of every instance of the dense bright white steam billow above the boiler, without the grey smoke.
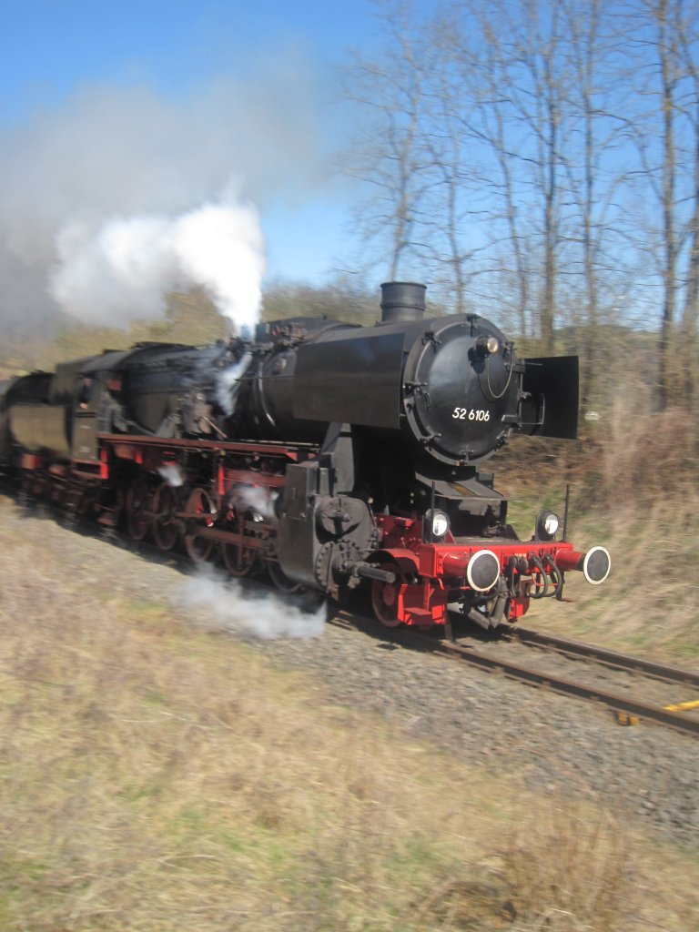
<path id="1" fill-rule="evenodd" d="M 177 215 L 73 221 L 57 237 L 48 290 L 84 322 L 127 327 L 162 316 L 172 288 L 203 287 L 234 333 L 257 321 L 265 271 L 263 237 L 251 204 L 230 193 Z"/>

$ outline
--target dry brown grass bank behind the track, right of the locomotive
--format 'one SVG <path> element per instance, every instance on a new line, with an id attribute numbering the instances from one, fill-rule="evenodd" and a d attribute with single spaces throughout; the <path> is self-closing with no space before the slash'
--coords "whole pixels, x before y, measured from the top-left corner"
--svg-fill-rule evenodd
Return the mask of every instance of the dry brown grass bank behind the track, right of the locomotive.
<path id="1" fill-rule="evenodd" d="M 503 457 L 500 486 L 527 536 L 541 506 L 560 509 L 571 483 L 569 539 L 603 544 L 612 559 L 599 587 L 569 573 L 574 605 L 547 600 L 528 623 L 569 631 L 668 661 L 699 659 L 699 424 L 652 411 L 648 390 L 617 396 L 577 444 L 523 441 Z M 543 450 L 547 452 L 544 455 Z M 536 456 L 532 469 L 528 457 Z M 536 621 L 534 621 L 536 619 Z"/>

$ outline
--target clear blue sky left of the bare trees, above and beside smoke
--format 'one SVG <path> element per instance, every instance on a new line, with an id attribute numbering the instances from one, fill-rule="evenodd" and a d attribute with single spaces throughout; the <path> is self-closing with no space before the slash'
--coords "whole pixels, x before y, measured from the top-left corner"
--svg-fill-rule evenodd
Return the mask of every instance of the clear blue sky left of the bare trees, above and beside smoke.
<path id="1" fill-rule="evenodd" d="M 276 193 L 260 198 L 267 274 L 320 281 L 342 265 L 357 193 L 323 177 L 322 163 L 342 129 L 334 68 L 349 47 L 366 51 L 377 42 L 371 0 L 23 0 L 3 5 L 1 24 L 6 142 L 30 131 L 43 138 L 41 128 L 90 89 L 148 89 L 162 102 L 196 109 L 216 82 L 235 82 L 244 96 L 267 72 L 279 66 L 282 75 L 282 61 L 302 73 L 303 94 L 290 105 L 312 140 L 308 161 L 318 165 L 312 183 L 295 183 L 290 170 Z"/>

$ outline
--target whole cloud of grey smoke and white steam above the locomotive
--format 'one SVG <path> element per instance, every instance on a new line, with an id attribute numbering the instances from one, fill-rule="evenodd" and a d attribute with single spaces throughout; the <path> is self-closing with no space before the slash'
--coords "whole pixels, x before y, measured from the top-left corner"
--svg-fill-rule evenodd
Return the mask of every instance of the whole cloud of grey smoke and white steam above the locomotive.
<path id="1" fill-rule="evenodd" d="M 324 181 L 305 62 L 283 51 L 244 86 L 172 102 L 83 89 L 0 125 L 0 328 L 50 333 L 66 315 L 125 326 L 197 283 L 250 326 L 265 268 L 258 211 Z"/>

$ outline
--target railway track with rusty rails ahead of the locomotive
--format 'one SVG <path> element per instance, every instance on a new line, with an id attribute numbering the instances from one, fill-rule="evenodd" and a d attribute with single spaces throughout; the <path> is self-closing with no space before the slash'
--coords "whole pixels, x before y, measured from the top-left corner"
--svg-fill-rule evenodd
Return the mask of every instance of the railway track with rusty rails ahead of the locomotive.
<path id="1" fill-rule="evenodd" d="M 609 708 L 621 724 L 654 722 L 699 737 L 699 673 L 691 670 L 525 628 L 513 628 L 497 641 L 483 641 L 450 640 L 410 629 L 387 631 L 372 619 L 358 620 L 344 611 L 330 619 L 330 624 L 354 624 L 403 647 L 442 654 L 532 686 L 597 702 Z M 513 646 L 519 650 L 513 651 Z M 522 663 L 523 652 L 537 654 L 537 665 Z M 565 663 L 552 665 L 551 655 L 562 656 Z M 582 677 L 578 675 L 581 669 Z M 621 684 L 610 686 L 606 680 L 617 675 L 622 677 Z"/>

